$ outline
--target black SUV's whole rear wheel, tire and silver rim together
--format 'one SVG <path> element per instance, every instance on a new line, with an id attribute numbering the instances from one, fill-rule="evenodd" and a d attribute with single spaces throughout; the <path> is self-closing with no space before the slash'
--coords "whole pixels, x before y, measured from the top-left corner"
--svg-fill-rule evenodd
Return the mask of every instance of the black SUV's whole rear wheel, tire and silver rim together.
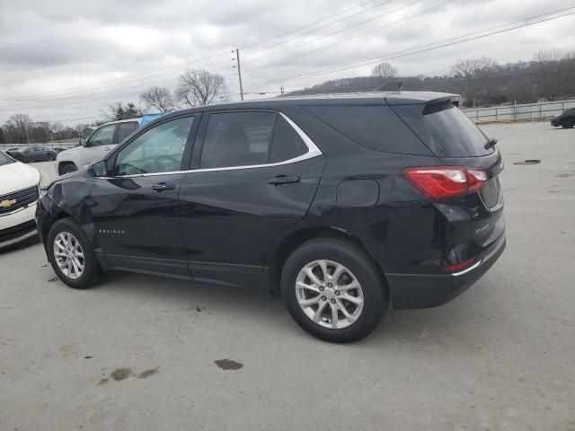
<path id="1" fill-rule="evenodd" d="M 351 342 L 367 337 L 385 315 L 385 280 L 353 242 L 305 242 L 286 261 L 281 292 L 288 311 L 319 339 Z"/>

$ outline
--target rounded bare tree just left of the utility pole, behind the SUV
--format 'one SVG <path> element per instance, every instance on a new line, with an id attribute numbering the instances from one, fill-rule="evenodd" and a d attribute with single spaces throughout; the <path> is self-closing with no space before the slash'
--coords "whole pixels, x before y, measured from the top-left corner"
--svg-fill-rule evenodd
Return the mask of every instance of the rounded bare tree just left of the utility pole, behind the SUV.
<path id="1" fill-rule="evenodd" d="M 226 92 L 223 76 L 211 74 L 207 70 L 190 69 L 180 75 L 176 98 L 193 108 L 209 105 L 217 96 Z"/>

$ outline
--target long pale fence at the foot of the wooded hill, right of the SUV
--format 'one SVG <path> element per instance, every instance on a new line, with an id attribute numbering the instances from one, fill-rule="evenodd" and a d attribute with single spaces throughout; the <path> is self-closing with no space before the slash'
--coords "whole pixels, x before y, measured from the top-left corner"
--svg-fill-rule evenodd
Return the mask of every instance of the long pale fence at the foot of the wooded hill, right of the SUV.
<path id="1" fill-rule="evenodd" d="M 464 113 L 476 123 L 489 121 L 544 120 L 562 114 L 564 110 L 575 108 L 575 100 L 544 101 L 521 105 L 497 106 L 494 108 L 476 108 L 464 110 Z"/>

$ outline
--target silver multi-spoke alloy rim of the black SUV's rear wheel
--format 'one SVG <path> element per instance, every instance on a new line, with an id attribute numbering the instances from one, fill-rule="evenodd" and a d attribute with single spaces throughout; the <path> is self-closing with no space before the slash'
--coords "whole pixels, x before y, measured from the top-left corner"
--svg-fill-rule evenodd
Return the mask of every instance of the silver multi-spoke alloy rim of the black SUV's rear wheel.
<path id="1" fill-rule="evenodd" d="M 363 312 L 364 296 L 358 279 L 333 260 L 314 260 L 299 271 L 296 298 L 308 319 L 331 330 L 349 327 Z"/>

